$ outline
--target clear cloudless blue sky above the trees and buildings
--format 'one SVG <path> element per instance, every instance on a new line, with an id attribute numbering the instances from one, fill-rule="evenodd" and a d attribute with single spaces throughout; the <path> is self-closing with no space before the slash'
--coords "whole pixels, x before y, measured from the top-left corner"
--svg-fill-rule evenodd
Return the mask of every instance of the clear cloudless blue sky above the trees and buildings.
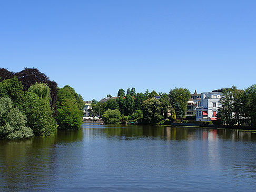
<path id="1" fill-rule="evenodd" d="M 0 67 L 84 100 L 255 84 L 256 1 L 1 1 Z"/>

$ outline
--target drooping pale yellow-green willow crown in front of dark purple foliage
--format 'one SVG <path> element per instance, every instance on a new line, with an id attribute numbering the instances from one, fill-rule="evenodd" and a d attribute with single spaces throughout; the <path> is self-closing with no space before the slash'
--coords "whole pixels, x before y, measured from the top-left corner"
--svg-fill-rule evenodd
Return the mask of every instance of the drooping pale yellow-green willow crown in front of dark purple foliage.
<path id="1" fill-rule="evenodd" d="M 52 101 L 51 89 L 45 83 L 36 82 L 34 85 L 31 85 L 27 91 L 37 94 L 39 98 L 46 98 L 49 102 Z"/>

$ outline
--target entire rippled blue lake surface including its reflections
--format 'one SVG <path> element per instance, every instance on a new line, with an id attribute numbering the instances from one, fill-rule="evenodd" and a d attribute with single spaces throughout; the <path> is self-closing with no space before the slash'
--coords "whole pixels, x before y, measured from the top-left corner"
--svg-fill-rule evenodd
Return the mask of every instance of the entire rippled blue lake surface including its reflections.
<path id="1" fill-rule="evenodd" d="M 0 141 L 0 191 L 256 191 L 256 133 L 83 124 Z"/>

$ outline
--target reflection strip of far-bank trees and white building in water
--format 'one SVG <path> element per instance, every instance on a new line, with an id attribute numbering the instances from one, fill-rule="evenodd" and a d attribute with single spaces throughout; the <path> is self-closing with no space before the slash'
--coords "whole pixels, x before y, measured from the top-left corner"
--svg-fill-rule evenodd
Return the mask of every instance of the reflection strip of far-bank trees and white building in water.
<path id="1" fill-rule="evenodd" d="M 255 140 L 256 134 L 252 132 L 228 130 L 228 129 L 205 129 L 194 127 L 165 127 L 165 126 L 136 126 L 136 125 L 112 125 L 99 129 L 107 137 L 120 139 L 136 139 L 140 137 L 152 137 L 154 139 L 168 140 L 216 140 L 218 138 L 231 140 Z M 97 132 L 95 132 L 96 134 Z"/>

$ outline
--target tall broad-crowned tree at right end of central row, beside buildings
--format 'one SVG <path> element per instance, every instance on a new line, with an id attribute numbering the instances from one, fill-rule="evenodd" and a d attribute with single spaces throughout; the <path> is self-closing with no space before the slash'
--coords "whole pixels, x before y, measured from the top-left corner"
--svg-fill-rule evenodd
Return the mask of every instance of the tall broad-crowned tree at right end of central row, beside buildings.
<path id="1" fill-rule="evenodd" d="M 170 103 L 174 107 L 177 116 L 178 116 L 179 109 L 175 108 L 176 106 L 178 106 L 175 103 L 178 103 L 181 106 L 182 116 L 184 116 L 187 105 L 188 105 L 188 100 L 190 97 L 191 97 L 191 93 L 187 88 L 175 87 L 174 89 L 170 90 L 170 93 L 169 93 Z"/>

